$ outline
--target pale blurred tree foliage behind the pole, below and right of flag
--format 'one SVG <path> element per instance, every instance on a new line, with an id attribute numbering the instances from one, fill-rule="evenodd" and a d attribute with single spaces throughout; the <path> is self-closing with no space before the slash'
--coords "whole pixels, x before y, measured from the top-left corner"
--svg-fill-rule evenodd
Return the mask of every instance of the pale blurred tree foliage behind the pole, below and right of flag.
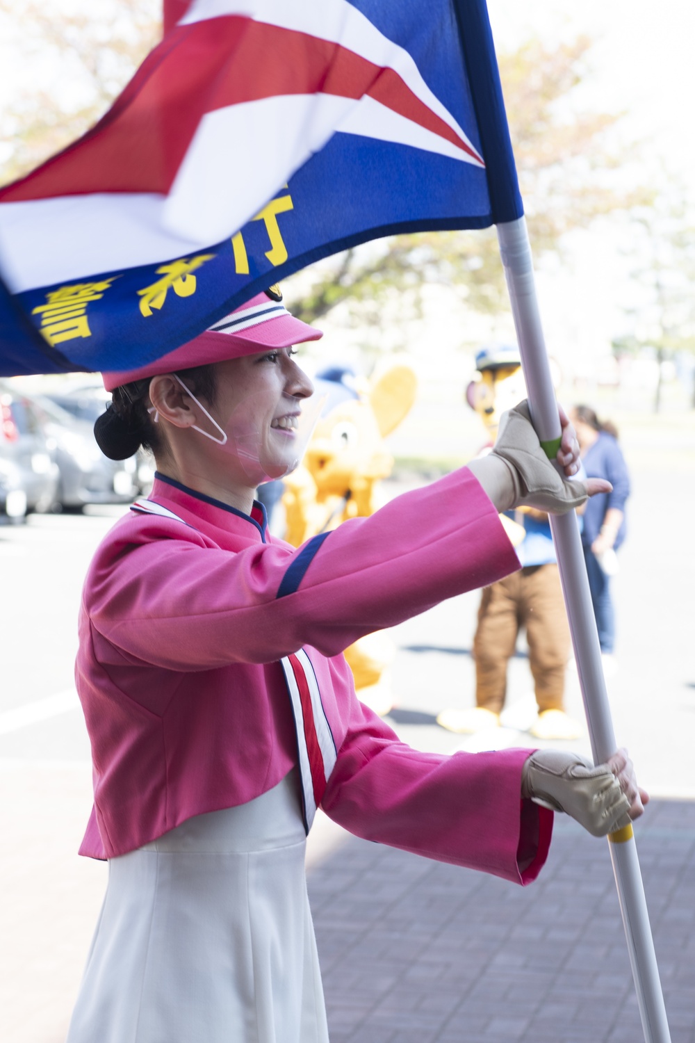
<path id="1" fill-rule="evenodd" d="M 537 261 L 561 251 L 563 237 L 573 228 L 647 199 L 644 190 L 613 184 L 621 155 L 612 151 L 609 131 L 620 114 L 579 107 L 578 88 L 589 75 L 591 45 L 587 37 L 553 48 L 532 40 L 498 55 Z M 347 250 L 315 270 L 308 286 L 302 281 L 296 301 L 297 313 L 307 322 L 349 297 L 361 322 L 378 323 L 381 305 L 394 289 L 409 294 L 417 310 L 427 283 L 451 287 L 475 311 L 508 311 L 492 228 L 395 236 Z"/>

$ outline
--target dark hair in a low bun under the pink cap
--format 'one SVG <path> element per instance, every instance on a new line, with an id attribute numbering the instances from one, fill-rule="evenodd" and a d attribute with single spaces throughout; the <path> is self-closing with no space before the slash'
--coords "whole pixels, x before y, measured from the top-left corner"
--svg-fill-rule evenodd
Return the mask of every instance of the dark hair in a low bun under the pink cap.
<path id="1" fill-rule="evenodd" d="M 196 397 L 215 403 L 217 369 L 214 363 L 179 369 L 176 373 Z M 106 412 L 94 425 L 97 445 L 109 460 L 127 460 L 141 445 L 154 455 L 166 454 L 166 440 L 148 410 L 151 377 L 114 388 Z"/>

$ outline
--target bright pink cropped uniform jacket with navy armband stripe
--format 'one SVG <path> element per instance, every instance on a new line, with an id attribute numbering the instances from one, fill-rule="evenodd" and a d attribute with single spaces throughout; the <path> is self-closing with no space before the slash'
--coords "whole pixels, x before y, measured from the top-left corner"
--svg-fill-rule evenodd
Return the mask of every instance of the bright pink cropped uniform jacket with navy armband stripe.
<path id="1" fill-rule="evenodd" d="M 79 617 L 77 690 L 94 810 L 80 853 L 124 854 L 276 785 L 297 762 L 278 659 L 314 664 L 338 759 L 322 806 L 368 840 L 529 882 L 552 815 L 522 801 L 528 750 L 420 753 L 354 695 L 342 651 L 519 567 L 462 469 L 298 550 L 251 516 L 157 476 L 98 549 Z M 180 520 L 179 520 L 180 519 Z"/>

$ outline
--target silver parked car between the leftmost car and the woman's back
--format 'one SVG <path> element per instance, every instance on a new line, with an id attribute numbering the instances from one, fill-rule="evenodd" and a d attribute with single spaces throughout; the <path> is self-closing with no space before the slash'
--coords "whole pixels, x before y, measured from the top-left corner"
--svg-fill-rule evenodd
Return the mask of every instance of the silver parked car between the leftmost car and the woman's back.
<path id="1" fill-rule="evenodd" d="M 94 440 L 93 422 L 78 419 L 45 395 L 33 395 L 60 478 L 55 496 L 64 510 L 85 504 L 127 504 L 140 492 L 138 461 L 108 460 Z"/>

